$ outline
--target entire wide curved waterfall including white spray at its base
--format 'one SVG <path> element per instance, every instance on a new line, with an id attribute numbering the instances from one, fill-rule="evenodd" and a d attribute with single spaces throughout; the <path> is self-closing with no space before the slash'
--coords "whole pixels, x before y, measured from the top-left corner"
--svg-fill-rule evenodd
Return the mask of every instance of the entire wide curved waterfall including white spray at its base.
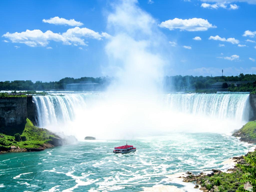
<path id="1" fill-rule="evenodd" d="M 127 96 L 129 97 L 129 95 Z M 38 126 L 98 139 L 132 139 L 170 132 L 227 133 L 249 120 L 249 94 L 161 94 L 157 102 L 106 94 L 34 96 Z M 111 98 L 111 99 L 110 99 Z M 124 102 L 127 101 L 127 102 Z"/>

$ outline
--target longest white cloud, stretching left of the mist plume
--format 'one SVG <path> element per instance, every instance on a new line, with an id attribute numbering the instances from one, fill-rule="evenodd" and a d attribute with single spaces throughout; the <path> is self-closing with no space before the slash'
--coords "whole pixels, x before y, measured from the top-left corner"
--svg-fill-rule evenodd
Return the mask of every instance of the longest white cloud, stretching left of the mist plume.
<path id="1" fill-rule="evenodd" d="M 106 34 L 104 34 L 106 36 Z M 13 43 L 24 43 L 30 47 L 45 47 L 49 44 L 49 41 L 62 42 L 64 45 L 87 45 L 83 38 L 91 38 L 101 40 L 103 35 L 95 32 L 86 27 L 79 28 L 74 27 L 68 29 L 65 33 L 54 33 L 50 30 L 42 32 L 39 29 L 26 30 L 21 33 L 9 33 L 7 32 L 2 37 L 10 39 Z"/>

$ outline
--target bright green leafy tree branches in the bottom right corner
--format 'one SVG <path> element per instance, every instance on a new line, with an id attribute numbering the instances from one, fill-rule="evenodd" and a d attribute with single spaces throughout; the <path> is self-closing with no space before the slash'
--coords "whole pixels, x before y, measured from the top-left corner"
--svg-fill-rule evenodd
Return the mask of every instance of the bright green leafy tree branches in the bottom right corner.
<path id="1" fill-rule="evenodd" d="M 248 164 L 237 164 L 236 166 L 243 170 L 243 172 L 247 173 L 247 177 L 243 180 L 241 180 L 241 183 L 250 182 L 252 185 L 251 191 L 256 192 L 256 158 L 252 157 L 250 153 L 248 153 L 248 156 L 244 156 L 244 159 Z M 246 192 L 248 190 L 245 190 L 242 187 L 239 187 L 236 192 Z M 248 191 L 249 192 L 249 191 Z"/>

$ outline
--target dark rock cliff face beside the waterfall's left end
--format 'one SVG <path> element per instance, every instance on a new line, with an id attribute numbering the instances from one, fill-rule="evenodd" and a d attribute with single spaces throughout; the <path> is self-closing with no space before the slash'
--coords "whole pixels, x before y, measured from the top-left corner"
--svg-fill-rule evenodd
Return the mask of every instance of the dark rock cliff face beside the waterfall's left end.
<path id="1" fill-rule="evenodd" d="M 27 117 L 35 121 L 32 96 L 0 98 L 0 133 L 22 133 Z"/>

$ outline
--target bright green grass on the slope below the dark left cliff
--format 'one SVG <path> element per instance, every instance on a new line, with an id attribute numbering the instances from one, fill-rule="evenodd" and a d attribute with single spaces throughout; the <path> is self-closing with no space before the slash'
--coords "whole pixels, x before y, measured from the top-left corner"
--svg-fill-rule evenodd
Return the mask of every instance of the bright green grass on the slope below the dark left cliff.
<path id="1" fill-rule="evenodd" d="M 33 123 L 27 119 L 25 129 L 21 136 L 26 137 L 26 141 L 16 142 L 14 136 L 3 135 L 4 138 L 0 138 L 0 151 L 6 151 L 10 148 L 11 145 L 19 146 L 20 148 L 39 148 L 44 143 L 47 143 L 49 136 L 52 136 L 52 133 L 46 129 L 38 128 L 33 125 Z"/>

